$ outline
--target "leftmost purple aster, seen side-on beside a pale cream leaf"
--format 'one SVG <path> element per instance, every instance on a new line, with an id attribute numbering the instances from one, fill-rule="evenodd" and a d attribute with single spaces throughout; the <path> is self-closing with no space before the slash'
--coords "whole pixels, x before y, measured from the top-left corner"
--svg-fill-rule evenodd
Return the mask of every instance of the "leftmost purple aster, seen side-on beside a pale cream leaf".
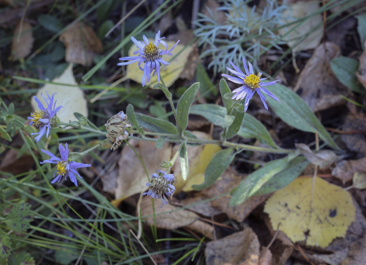
<path id="1" fill-rule="evenodd" d="M 46 136 L 48 138 L 49 130 L 52 129 L 53 127 L 58 126 L 57 124 L 59 123 L 59 120 L 56 117 L 56 113 L 57 113 L 57 111 L 59 111 L 61 109 L 62 106 L 58 106 L 56 108 L 57 101 L 55 101 L 55 104 L 53 103 L 53 96 L 55 94 L 56 93 L 53 93 L 52 96 L 49 96 L 46 92 L 46 95 L 48 97 L 48 99 L 46 99 L 41 93 L 42 98 L 47 103 L 46 108 L 43 106 L 41 101 L 36 96 L 34 96 L 34 100 L 37 102 L 38 108 L 40 110 L 39 111 L 36 110 L 33 113 L 31 113 L 30 114 L 31 117 L 28 117 L 28 119 L 31 120 L 30 125 L 34 124 L 40 128 L 40 132 L 31 133 L 31 135 L 38 135 L 38 136 L 36 136 L 36 138 L 34 138 L 34 140 L 36 140 L 37 143 L 39 140 L 41 140 L 42 136 L 46 133 L 46 129 L 47 129 Z"/>

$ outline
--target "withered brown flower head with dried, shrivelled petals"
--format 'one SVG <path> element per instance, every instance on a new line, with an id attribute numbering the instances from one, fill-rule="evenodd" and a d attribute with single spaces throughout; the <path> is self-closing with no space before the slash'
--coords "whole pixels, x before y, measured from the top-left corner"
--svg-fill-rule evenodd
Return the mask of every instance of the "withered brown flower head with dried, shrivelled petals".
<path id="1" fill-rule="evenodd" d="M 128 121 L 127 115 L 123 111 L 110 118 L 104 125 L 108 132 L 106 137 L 113 143 L 111 150 L 112 148 L 116 150 L 121 144 L 121 140 L 127 139 L 128 134 L 131 136 L 134 134 L 130 121 Z"/>

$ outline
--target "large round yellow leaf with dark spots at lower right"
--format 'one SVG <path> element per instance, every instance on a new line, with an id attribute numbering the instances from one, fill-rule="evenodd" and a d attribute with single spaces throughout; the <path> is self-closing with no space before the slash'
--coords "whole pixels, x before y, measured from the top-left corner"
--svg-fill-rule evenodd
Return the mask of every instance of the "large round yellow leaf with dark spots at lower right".
<path id="1" fill-rule="evenodd" d="M 355 221 L 350 193 L 319 177 L 297 178 L 277 190 L 264 207 L 272 227 L 283 231 L 292 242 L 306 241 L 308 246 L 328 246 L 344 237 Z"/>

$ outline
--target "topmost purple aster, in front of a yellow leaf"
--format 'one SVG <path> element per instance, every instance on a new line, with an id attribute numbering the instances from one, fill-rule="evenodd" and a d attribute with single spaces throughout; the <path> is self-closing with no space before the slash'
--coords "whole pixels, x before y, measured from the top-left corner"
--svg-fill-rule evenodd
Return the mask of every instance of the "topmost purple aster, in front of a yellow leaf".
<path id="1" fill-rule="evenodd" d="M 160 82 L 160 63 L 167 65 L 168 62 L 164 61 L 163 58 L 161 58 L 162 55 L 173 55 L 171 51 L 174 49 L 174 47 L 178 44 L 179 40 L 174 44 L 174 46 L 168 50 L 168 44 L 165 41 L 162 41 L 161 39 L 165 39 L 165 37 L 160 38 L 160 30 L 155 35 L 155 41 L 154 43 L 150 42 L 145 35 L 142 36 L 142 41 L 138 41 L 134 37 L 131 37 L 131 40 L 136 44 L 137 48 L 139 48 L 138 51 L 134 52 L 134 54 L 139 53 L 138 56 L 127 56 L 119 58 L 119 60 L 132 60 L 129 62 L 119 63 L 117 65 L 126 65 L 126 64 L 132 64 L 135 62 L 138 62 L 138 67 L 141 71 L 143 71 L 142 74 L 142 86 L 145 86 L 145 82 L 147 79 L 147 83 L 150 81 L 150 74 L 155 69 L 153 76 L 155 73 L 157 73 L 158 83 Z M 158 48 L 158 44 L 161 43 L 165 46 L 165 50 L 161 50 Z M 140 67 L 141 63 L 145 63 L 144 68 Z"/>

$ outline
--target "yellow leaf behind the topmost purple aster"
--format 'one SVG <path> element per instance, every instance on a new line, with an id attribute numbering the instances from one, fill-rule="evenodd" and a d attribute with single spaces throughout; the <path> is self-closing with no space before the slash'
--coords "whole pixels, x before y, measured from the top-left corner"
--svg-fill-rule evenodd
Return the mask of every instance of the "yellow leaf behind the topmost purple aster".
<path id="1" fill-rule="evenodd" d="M 154 42 L 153 39 L 149 39 L 151 42 Z M 173 41 L 167 41 L 169 49 L 174 46 L 175 42 Z M 165 47 L 159 43 L 159 49 L 164 49 Z M 136 54 L 133 54 L 139 50 L 136 45 L 132 45 L 130 50 L 128 50 L 128 56 L 136 56 Z M 165 85 L 167 87 L 170 87 L 175 80 L 177 80 L 180 76 L 180 74 L 183 72 L 184 66 L 187 63 L 188 56 L 192 52 L 193 46 L 187 46 L 184 48 L 184 45 L 177 44 L 175 48 L 171 51 L 173 55 L 163 55 L 163 59 L 167 62 L 170 62 L 168 65 L 161 65 L 160 66 L 160 75 L 163 77 L 163 80 L 165 82 Z M 179 54 L 178 54 L 179 53 Z M 178 54 L 178 56 L 176 56 Z M 176 57 L 175 57 L 176 56 Z M 174 58 L 175 57 L 175 58 Z M 172 61 L 171 61 L 172 60 Z M 144 63 L 142 63 L 141 68 L 144 67 Z M 135 82 L 138 82 L 142 84 L 142 71 L 138 67 L 138 63 L 128 64 L 127 65 L 127 72 L 126 77 L 129 79 L 134 80 Z M 155 73 L 155 76 L 151 75 L 150 82 L 147 83 L 147 86 L 153 88 L 155 84 L 158 83 L 158 79 Z"/>

